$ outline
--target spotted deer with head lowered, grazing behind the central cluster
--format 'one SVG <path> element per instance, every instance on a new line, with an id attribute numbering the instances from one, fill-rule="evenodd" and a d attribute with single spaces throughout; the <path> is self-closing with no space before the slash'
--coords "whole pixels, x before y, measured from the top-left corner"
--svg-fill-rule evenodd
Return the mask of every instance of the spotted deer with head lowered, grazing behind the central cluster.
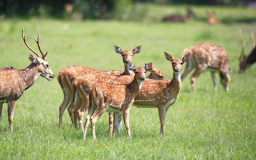
<path id="1" fill-rule="evenodd" d="M 182 81 L 189 72 L 195 68 L 195 72 L 190 77 L 191 86 L 193 91 L 195 91 L 196 78 L 208 68 L 211 69 L 214 90 L 217 90 L 215 72 L 219 71 L 220 82 L 223 88 L 228 91 L 228 86 L 231 80 L 231 69 L 229 68 L 229 58 L 225 49 L 219 45 L 205 42 L 188 47 L 183 51 L 183 54 L 188 52 L 191 54 L 191 58 L 186 65 L 185 72 L 181 76 Z"/>

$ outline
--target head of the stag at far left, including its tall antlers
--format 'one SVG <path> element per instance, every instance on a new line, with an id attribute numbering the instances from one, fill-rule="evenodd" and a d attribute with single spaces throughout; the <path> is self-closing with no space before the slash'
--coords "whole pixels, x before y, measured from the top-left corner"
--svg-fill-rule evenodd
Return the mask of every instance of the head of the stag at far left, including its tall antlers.
<path id="1" fill-rule="evenodd" d="M 36 56 L 34 56 L 33 54 L 29 54 L 29 60 L 31 61 L 31 63 L 33 63 L 36 66 L 40 76 L 45 77 L 47 80 L 51 81 L 51 79 L 54 77 L 54 74 L 52 73 L 52 70 L 49 67 L 49 63 L 46 60 L 47 52 L 44 54 L 40 48 L 39 32 L 37 31 L 37 39 L 35 37 L 34 39 L 36 41 L 36 44 L 38 45 L 38 49 L 42 54 L 42 57 L 40 57 L 38 52 L 34 51 L 31 47 L 29 47 L 28 43 L 26 42 L 26 37 L 24 35 L 24 29 L 22 29 L 22 39 L 24 41 L 24 44 L 28 47 L 28 49 L 32 51 L 34 54 L 36 54 Z"/>

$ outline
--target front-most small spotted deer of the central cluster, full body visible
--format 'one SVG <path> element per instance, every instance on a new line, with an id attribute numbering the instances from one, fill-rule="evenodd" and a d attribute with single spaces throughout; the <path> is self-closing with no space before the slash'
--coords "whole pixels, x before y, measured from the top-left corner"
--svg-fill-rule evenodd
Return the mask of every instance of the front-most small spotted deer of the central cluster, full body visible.
<path id="1" fill-rule="evenodd" d="M 105 112 L 114 112 L 114 117 L 122 111 L 124 124 L 127 130 L 127 135 L 131 138 L 131 130 L 129 127 L 129 109 L 131 108 L 135 96 L 140 92 L 141 85 L 145 81 L 146 72 L 151 66 L 135 68 L 132 63 L 128 63 L 130 70 L 134 72 L 134 77 L 131 83 L 128 84 L 113 84 L 106 81 L 98 81 L 93 84 L 89 98 L 92 99 L 88 109 L 88 116 L 84 124 L 83 140 L 86 138 L 88 125 L 91 122 L 93 139 L 96 140 L 95 124 L 97 119 Z M 117 128 L 114 124 L 114 129 Z M 113 136 L 115 134 L 113 133 Z"/>

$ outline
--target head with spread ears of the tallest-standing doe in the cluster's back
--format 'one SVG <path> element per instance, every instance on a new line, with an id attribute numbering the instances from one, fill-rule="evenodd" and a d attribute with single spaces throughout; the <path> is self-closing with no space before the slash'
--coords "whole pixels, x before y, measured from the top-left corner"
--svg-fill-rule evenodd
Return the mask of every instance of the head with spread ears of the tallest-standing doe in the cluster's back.
<path id="1" fill-rule="evenodd" d="M 129 62 L 132 62 L 132 57 L 134 54 L 138 54 L 141 51 L 141 46 L 135 47 L 132 51 L 131 50 L 123 51 L 120 47 L 115 45 L 115 51 L 116 53 L 122 55 L 124 64 L 127 64 Z"/>

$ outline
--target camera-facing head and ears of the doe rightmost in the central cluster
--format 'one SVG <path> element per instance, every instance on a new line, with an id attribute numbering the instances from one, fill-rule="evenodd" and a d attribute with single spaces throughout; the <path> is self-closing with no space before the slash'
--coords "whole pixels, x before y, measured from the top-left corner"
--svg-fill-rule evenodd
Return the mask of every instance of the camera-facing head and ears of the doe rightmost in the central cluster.
<path id="1" fill-rule="evenodd" d="M 173 72 L 175 73 L 181 72 L 183 63 L 188 61 L 190 56 L 190 54 L 187 53 L 182 59 L 180 59 L 180 58 L 173 58 L 173 56 L 171 54 L 168 54 L 167 52 L 164 52 L 164 55 L 168 61 L 172 62 L 172 69 L 173 69 Z"/>

